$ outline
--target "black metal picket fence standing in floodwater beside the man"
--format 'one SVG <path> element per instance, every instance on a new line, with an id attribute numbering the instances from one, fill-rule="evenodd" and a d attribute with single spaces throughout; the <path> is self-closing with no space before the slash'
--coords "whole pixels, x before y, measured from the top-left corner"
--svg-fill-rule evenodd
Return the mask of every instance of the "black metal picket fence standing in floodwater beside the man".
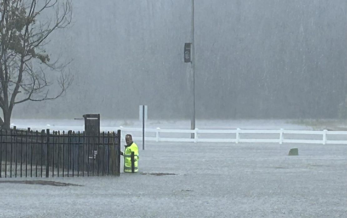
<path id="1" fill-rule="evenodd" d="M 0 129 L 0 177 L 120 175 L 120 130 Z"/>

